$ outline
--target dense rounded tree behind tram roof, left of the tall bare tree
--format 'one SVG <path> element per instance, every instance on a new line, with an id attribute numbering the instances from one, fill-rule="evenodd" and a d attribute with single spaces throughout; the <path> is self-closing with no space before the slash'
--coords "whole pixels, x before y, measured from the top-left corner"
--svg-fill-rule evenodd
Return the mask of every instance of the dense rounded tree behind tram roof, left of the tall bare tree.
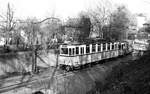
<path id="1" fill-rule="evenodd" d="M 82 12 L 77 18 L 69 18 L 64 27 L 68 40 L 83 42 L 90 35 L 91 21 L 88 15 Z"/>

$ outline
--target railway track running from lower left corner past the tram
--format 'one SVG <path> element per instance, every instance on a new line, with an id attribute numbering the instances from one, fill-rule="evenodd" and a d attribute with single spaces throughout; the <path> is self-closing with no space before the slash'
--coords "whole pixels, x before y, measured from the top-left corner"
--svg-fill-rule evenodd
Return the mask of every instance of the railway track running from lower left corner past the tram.
<path id="1" fill-rule="evenodd" d="M 122 61 L 126 62 L 126 61 L 129 61 L 131 59 L 132 59 L 131 56 L 128 55 L 128 56 L 125 56 L 125 57 L 122 57 L 122 58 L 117 58 L 114 61 L 109 61 L 109 62 L 107 62 L 107 64 L 113 62 L 115 65 L 117 65 L 117 62 L 118 63 L 122 62 Z M 103 66 L 103 64 L 101 66 Z M 88 67 L 88 68 L 82 69 L 80 72 L 86 71 L 86 70 L 89 70 L 89 69 L 90 68 Z M 56 71 L 59 71 L 59 70 L 56 70 Z M 65 72 L 64 71 L 62 74 L 59 74 L 59 75 L 57 75 L 57 73 L 54 73 L 53 75 L 52 74 L 51 75 L 49 75 L 49 74 L 43 75 L 42 74 L 42 76 L 27 75 L 27 76 L 24 77 L 24 79 L 22 81 L 20 81 L 22 76 L 8 78 L 8 79 L 6 79 L 4 81 L 2 81 L 2 80 L 0 81 L 0 83 L 4 83 L 2 85 L 2 87 L 0 87 L 0 93 L 7 92 L 7 91 L 10 91 L 10 90 L 13 90 L 13 89 L 16 89 L 16 88 L 21 88 L 21 87 L 25 87 L 25 86 L 28 86 L 28 85 L 32 85 L 32 84 L 35 84 L 35 83 L 37 83 L 39 81 L 50 80 L 52 77 L 53 78 L 57 78 L 57 79 L 61 79 L 62 77 L 68 77 L 68 76 L 74 75 L 75 73 L 78 73 L 78 72 L 79 72 L 79 70 L 70 71 L 70 72 Z"/>

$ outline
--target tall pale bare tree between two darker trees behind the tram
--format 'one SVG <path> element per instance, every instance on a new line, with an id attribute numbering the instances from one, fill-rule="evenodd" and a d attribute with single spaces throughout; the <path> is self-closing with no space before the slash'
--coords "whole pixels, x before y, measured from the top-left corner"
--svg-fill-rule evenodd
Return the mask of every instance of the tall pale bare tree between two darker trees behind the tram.
<path id="1" fill-rule="evenodd" d="M 111 13 L 112 4 L 108 0 L 101 0 L 98 2 L 96 9 L 88 11 L 91 18 L 92 31 L 96 32 L 99 37 L 103 37 L 103 27 L 109 23 Z"/>

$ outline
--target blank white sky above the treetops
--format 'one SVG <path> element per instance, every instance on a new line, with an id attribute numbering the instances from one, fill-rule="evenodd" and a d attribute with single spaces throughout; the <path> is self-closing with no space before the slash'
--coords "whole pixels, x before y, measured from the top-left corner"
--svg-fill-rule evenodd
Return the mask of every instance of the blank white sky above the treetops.
<path id="1" fill-rule="evenodd" d="M 5 14 L 8 2 L 13 8 L 15 17 L 46 18 L 57 16 L 60 18 L 74 17 L 80 11 L 94 8 L 102 0 L 0 0 L 0 14 Z M 103 0 L 104 1 L 104 0 Z M 132 13 L 146 13 L 150 15 L 150 1 L 148 0 L 109 0 L 114 6 L 124 4 Z"/>

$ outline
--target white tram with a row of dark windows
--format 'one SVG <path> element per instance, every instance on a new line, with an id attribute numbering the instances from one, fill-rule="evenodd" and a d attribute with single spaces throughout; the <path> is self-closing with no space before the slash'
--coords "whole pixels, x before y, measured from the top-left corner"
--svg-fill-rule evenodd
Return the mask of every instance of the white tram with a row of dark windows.
<path id="1" fill-rule="evenodd" d="M 62 44 L 59 47 L 59 65 L 78 67 L 128 53 L 127 42 L 95 44 Z"/>

